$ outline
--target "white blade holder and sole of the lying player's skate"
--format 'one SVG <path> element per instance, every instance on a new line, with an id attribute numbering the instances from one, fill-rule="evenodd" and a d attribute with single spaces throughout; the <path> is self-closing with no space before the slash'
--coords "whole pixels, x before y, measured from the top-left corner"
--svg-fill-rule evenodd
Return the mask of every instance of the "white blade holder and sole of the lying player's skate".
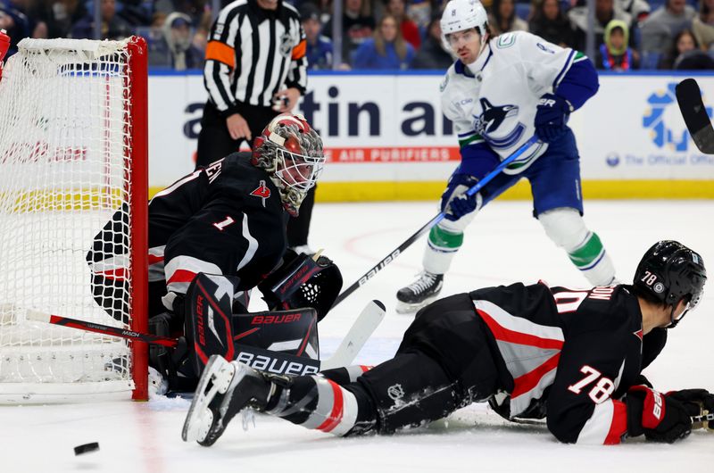
<path id="1" fill-rule="evenodd" d="M 203 442 L 213 424 L 213 412 L 208 406 L 216 394 L 228 390 L 234 373 L 233 365 L 219 355 L 213 355 L 206 363 L 181 431 L 184 442 Z M 209 383 L 212 383 L 210 388 Z"/>

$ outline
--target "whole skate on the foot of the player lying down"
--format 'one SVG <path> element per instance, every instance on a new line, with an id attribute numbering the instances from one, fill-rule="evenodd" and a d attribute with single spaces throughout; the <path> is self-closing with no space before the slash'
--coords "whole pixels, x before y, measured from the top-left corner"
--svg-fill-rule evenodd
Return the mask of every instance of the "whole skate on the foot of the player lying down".
<path id="1" fill-rule="evenodd" d="M 237 361 L 213 355 L 198 382 L 181 437 L 211 446 L 228 422 L 246 408 L 261 411 L 270 395 L 270 380 Z"/>

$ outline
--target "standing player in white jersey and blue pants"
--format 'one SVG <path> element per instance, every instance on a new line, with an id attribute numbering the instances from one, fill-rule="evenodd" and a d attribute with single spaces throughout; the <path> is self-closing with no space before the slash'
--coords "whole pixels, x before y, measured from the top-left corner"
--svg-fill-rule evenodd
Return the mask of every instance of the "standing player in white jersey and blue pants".
<path id="1" fill-rule="evenodd" d="M 518 31 L 491 37 L 477 0 L 452 0 L 441 19 L 444 42 L 458 60 L 441 85 L 444 114 L 454 123 L 461 164 L 441 198 L 446 218 L 431 229 L 424 271 L 397 293 L 397 311 L 416 311 L 438 295 L 444 273 L 479 209 L 527 178 L 533 214 L 593 285 L 607 285 L 615 269 L 600 238 L 585 226 L 580 165 L 571 112 L 598 89 L 584 54 Z M 471 198 L 463 193 L 536 134 L 519 160 Z"/>

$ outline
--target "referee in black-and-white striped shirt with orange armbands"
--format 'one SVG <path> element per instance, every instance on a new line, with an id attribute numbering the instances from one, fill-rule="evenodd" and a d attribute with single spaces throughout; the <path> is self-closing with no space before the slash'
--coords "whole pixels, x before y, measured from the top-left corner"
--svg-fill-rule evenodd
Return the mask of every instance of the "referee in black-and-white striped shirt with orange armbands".
<path id="1" fill-rule="evenodd" d="M 203 84 L 196 166 L 238 150 L 305 92 L 305 33 L 295 8 L 283 0 L 236 0 L 211 29 Z"/>

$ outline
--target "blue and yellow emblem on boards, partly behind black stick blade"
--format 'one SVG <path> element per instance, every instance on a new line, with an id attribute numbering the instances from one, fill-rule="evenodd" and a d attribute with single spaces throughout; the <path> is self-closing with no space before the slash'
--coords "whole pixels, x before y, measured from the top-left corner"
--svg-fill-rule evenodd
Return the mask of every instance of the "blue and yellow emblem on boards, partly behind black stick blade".
<path id="1" fill-rule="evenodd" d="M 652 143 L 658 148 L 685 152 L 690 137 L 679 113 L 675 87 L 677 82 L 670 82 L 666 90 L 654 92 L 647 98 L 649 108 L 644 112 L 642 125 L 650 131 Z M 707 113 L 711 116 L 711 107 L 707 107 Z"/>

